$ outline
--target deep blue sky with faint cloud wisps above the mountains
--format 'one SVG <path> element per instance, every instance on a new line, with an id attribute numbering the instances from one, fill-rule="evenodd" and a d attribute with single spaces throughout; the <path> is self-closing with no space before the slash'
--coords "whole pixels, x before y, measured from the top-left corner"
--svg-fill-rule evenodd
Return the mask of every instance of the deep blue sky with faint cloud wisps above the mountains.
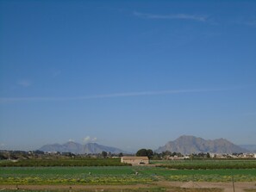
<path id="1" fill-rule="evenodd" d="M 0 149 L 256 145 L 256 1 L 0 0 Z"/>

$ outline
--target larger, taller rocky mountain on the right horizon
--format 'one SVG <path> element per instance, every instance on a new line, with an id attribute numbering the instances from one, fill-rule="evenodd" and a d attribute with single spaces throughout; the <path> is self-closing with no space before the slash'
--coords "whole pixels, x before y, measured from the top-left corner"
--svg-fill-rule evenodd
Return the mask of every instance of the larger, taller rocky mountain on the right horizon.
<path id="1" fill-rule="evenodd" d="M 174 141 L 169 141 L 165 146 L 160 146 L 156 152 L 181 152 L 183 154 L 191 154 L 198 152 L 212 153 L 233 153 L 248 152 L 247 149 L 235 146 L 227 139 L 206 140 L 195 136 L 183 135 Z"/>

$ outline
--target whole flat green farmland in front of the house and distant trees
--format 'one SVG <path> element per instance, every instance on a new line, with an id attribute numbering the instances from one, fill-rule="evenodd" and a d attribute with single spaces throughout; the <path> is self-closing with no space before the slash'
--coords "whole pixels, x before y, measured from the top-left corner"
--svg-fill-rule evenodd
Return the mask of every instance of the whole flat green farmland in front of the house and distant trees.
<path id="1" fill-rule="evenodd" d="M 16 163 L 3 161 L 1 164 L 3 166 L 0 167 L 0 187 L 2 185 L 19 186 L 20 188 L 3 190 L 9 192 L 90 192 L 101 191 L 97 189 L 102 186 L 104 186 L 103 191 L 111 192 L 221 192 L 222 189 L 184 189 L 175 186 L 166 187 L 165 184 L 159 183 L 256 182 L 255 160 L 153 161 L 151 166 L 120 166 L 128 164 L 120 164 L 120 159 L 84 159 L 84 162 L 83 159 L 53 161 L 40 159 L 23 160 Z M 7 164 L 11 165 L 6 166 Z M 18 166 L 19 164 L 22 166 Z M 80 164 L 83 166 L 79 166 Z M 91 164 L 95 164 L 95 166 L 91 166 Z M 175 166 L 178 169 L 173 169 Z M 26 186 L 36 186 L 37 188 L 36 190 L 26 189 Z M 44 186 L 51 186 L 52 189 L 44 189 Z M 64 188 L 55 189 L 56 186 L 64 186 Z M 74 187 L 71 190 L 71 186 L 82 186 L 81 188 L 88 189 L 75 189 Z M 106 186 L 108 187 L 106 188 Z M 120 186 L 125 186 L 127 189 L 120 190 L 118 189 Z"/>

